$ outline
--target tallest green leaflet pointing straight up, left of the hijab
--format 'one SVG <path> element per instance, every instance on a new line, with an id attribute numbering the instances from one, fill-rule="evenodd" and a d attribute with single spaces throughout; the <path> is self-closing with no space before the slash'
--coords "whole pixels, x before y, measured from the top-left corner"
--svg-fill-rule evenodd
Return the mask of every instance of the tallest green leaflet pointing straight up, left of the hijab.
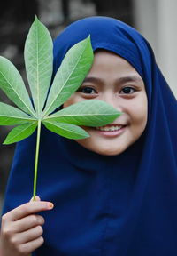
<path id="1" fill-rule="evenodd" d="M 47 97 L 53 67 L 53 43 L 47 28 L 35 18 L 25 44 L 27 79 L 37 116 Z"/>

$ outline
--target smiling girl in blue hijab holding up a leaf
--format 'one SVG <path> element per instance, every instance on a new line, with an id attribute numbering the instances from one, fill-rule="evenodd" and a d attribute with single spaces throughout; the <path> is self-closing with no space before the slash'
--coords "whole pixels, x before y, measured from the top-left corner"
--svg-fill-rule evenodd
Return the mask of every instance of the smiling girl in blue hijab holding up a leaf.
<path id="1" fill-rule="evenodd" d="M 1 256 L 177 254 L 176 100 L 150 44 L 112 18 L 90 17 L 65 28 L 54 42 L 54 74 L 73 44 L 89 35 L 93 66 L 63 108 L 99 99 L 123 114 L 104 127 L 83 127 L 90 134 L 84 140 L 43 127 L 38 195 L 45 201 L 26 203 L 35 135 L 18 143 Z"/>

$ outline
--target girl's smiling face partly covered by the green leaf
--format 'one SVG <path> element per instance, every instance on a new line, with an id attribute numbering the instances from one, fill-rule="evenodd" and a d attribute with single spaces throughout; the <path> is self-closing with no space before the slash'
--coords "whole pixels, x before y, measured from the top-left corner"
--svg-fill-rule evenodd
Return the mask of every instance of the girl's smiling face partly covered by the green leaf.
<path id="1" fill-rule="evenodd" d="M 123 112 L 112 124 L 82 127 L 87 139 L 76 140 L 84 148 L 101 155 L 124 152 L 142 135 L 147 124 L 148 100 L 141 76 L 127 60 L 113 52 L 100 50 L 81 87 L 64 104 L 64 108 L 81 100 L 104 100 Z"/>

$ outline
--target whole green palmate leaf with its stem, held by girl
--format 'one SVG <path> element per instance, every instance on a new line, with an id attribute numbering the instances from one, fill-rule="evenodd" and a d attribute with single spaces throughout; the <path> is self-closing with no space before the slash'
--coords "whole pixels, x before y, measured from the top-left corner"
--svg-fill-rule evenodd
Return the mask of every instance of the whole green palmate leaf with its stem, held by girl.
<path id="1" fill-rule="evenodd" d="M 84 100 L 51 114 L 69 99 L 89 73 L 94 59 L 89 35 L 66 53 L 51 86 L 52 41 L 48 29 L 37 18 L 29 30 L 24 54 L 35 109 L 19 71 L 9 60 L 0 57 L 0 89 L 20 108 L 0 103 L 0 125 L 19 124 L 8 134 L 4 144 L 23 140 L 37 128 L 35 198 L 41 124 L 51 132 L 79 140 L 89 137 L 81 125 L 96 127 L 110 124 L 120 113 L 104 101 Z"/>

